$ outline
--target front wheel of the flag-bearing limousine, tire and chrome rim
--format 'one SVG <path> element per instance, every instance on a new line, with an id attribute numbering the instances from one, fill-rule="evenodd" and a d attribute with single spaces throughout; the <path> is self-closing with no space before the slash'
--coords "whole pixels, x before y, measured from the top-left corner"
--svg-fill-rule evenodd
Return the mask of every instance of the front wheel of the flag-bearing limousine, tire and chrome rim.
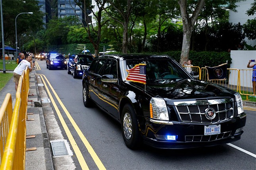
<path id="1" fill-rule="evenodd" d="M 142 144 L 137 116 L 130 104 L 125 104 L 121 116 L 121 131 L 125 145 L 130 149 L 138 149 Z"/>

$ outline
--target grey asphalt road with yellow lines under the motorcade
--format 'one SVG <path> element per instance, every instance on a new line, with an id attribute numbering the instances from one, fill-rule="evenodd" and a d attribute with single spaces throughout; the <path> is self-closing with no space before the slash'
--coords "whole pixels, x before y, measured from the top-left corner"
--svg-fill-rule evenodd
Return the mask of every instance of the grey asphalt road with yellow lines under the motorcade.
<path id="1" fill-rule="evenodd" d="M 47 83 L 49 89 L 50 85 L 54 89 L 50 89 L 49 93 L 72 135 L 67 133 L 60 121 L 62 118 L 55 113 L 62 134 L 73 151 L 71 159 L 76 169 L 256 169 L 255 110 L 245 110 L 247 121 L 244 134 L 241 140 L 232 144 L 194 149 L 154 149 L 144 145 L 139 150 L 130 150 L 123 142 L 119 123 L 96 106 L 84 107 L 81 79 L 74 79 L 67 74 L 67 70 L 46 69 L 45 60 L 36 61 L 40 67 L 36 72 L 45 76 L 44 79 L 50 83 Z M 75 144 L 72 144 L 73 140 Z M 78 150 L 82 157 L 79 157 Z M 82 164 L 81 159 L 86 164 Z"/>

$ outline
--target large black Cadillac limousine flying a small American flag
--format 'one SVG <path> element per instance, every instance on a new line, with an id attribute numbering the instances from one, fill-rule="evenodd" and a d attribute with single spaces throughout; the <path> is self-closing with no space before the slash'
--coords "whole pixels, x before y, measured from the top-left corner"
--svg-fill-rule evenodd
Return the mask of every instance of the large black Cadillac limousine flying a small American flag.
<path id="1" fill-rule="evenodd" d="M 82 83 L 84 105 L 93 101 L 121 123 L 131 149 L 142 142 L 158 148 L 212 146 L 243 134 L 240 94 L 195 79 L 167 55 L 96 57 Z"/>

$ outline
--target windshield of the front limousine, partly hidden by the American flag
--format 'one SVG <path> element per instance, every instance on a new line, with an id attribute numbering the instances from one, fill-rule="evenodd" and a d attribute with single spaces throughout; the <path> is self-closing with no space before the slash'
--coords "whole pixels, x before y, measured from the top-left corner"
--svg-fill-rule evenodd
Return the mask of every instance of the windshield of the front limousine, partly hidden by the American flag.
<path id="1" fill-rule="evenodd" d="M 172 83 L 182 79 L 190 78 L 171 59 L 150 59 L 150 60 L 127 60 L 127 70 L 136 64 L 146 64 L 146 83 Z M 128 73 L 127 73 L 128 75 Z"/>

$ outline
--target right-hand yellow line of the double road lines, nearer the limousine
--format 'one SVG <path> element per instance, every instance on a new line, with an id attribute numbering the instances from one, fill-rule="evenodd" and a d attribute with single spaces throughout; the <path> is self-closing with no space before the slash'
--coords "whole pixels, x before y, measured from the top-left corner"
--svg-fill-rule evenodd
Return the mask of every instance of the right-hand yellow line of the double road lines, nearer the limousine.
<path id="1" fill-rule="evenodd" d="M 44 75 L 42 75 L 44 76 Z M 60 100 L 58 94 L 55 92 L 55 90 L 53 89 L 52 85 L 50 84 L 50 82 L 48 81 L 48 79 L 46 78 L 46 76 L 44 76 L 44 78 L 46 79 L 50 89 L 52 90 L 52 92 L 54 93 L 55 97 L 57 98 L 58 102 L 60 103 L 60 106 L 62 106 L 62 109 L 64 110 L 64 112 L 66 113 L 67 117 L 69 118 L 69 121 L 71 122 L 71 124 L 73 125 L 73 127 L 75 128 L 77 134 L 79 135 L 79 137 L 81 138 L 83 144 L 85 145 L 85 147 L 87 148 L 88 152 L 90 153 L 92 159 L 94 160 L 95 164 L 98 166 L 98 168 L 100 170 L 106 170 L 105 166 L 102 164 L 102 162 L 100 161 L 98 155 L 95 153 L 94 149 L 92 148 L 92 146 L 90 145 L 90 143 L 88 142 L 88 140 L 85 138 L 85 136 L 83 135 L 83 132 L 80 130 L 80 128 L 77 126 L 77 124 L 75 123 L 73 117 L 70 115 L 70 113 L 67 111 L 66 107 L 64 106 L 64 104 L 62 103 L 62 101 Z"/>

